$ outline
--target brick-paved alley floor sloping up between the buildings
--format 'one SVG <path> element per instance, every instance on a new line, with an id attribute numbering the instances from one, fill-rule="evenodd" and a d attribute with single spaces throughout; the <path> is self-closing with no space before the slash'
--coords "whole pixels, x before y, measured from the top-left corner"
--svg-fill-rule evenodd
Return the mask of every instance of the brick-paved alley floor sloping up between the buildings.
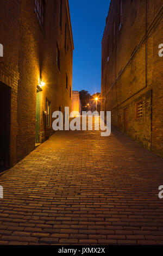
<path id="1" fill-rule="evenodd" d="M 1 245 L 163 245 L 163 160 L 120 132 L 59 131 L 0 185 Z"/>

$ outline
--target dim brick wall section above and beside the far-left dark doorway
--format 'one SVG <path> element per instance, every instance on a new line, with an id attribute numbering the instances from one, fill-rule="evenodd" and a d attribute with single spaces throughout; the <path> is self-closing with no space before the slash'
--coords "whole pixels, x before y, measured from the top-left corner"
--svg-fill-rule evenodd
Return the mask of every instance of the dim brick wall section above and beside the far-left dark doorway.
<path id="1" fill-rule="evenodd" d="M 0 43 L 3 44 L 3 57 L 0 58 L 0 81 L 11 87 L 10 117 L 10 165 L 16 163 L 17 134 L 17 88 L 18 51 L 20 21 L 20 1 L 1 0 L 0 4 Z"/>

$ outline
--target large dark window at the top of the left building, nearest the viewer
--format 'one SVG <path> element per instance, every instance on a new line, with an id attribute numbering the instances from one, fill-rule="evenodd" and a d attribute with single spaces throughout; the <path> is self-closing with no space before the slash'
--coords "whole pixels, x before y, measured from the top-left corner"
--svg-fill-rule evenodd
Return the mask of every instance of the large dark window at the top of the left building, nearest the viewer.
<path id="1" fill-rule="evenodd" d="M 35 14 L 40 23 L 41 28 L 43 29 L 43 22 L 45 16 L 45 1 L 43 0 L 35 0 Z"/>

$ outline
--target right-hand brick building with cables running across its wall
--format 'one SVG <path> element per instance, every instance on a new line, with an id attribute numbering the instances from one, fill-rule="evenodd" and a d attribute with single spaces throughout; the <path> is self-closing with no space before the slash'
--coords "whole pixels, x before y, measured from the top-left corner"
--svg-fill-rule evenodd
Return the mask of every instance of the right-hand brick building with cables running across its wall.
<path id="1" fill-rule="evenodd" d="M 161 0 L 112 0 L 102 39 L 102 110 L 163 157 Z"/>

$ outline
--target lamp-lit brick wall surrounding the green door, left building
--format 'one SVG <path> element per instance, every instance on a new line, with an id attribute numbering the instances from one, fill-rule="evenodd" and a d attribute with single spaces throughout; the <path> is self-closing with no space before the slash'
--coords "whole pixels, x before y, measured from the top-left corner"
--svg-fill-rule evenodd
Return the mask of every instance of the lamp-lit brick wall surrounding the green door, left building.
<path id="1" fill-rule="evenodd" d="M 34 1 L 23 0 L 21 4 L 21 51 L 20 88 L 18 90 L 18 135 L 17 160 L 35 148 L 36 87 L 40 77 L 46 83 L 42 88 L 40 105 L 40 142 L 54 132 L 45 126 L 43 111 L 46 98 L 51 101 L 51 113 L 61 106 L 71 107 L 73 44 L 68 26 L 67 1 L 62 1 L 62 28 L 60 28 L 60 0 L 46 1 L 45 27 L 43 31 L 34 13 Z M 67 23 L 67 45 L 65 51 L 65 23 Z M 60 72 L 55 63 L 57 44 L 60 50 Z M 66 90 L 66 72 L 68 92 Z"/>

